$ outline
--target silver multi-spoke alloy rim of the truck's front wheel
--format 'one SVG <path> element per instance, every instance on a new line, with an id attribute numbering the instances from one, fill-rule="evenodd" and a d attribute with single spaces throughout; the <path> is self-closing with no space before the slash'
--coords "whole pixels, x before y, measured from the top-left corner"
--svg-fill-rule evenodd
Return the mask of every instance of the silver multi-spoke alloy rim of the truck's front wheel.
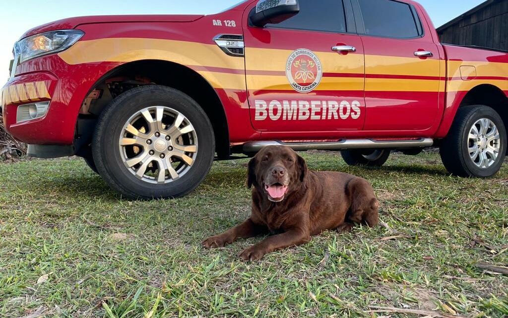
<path id="1" fill-rule="evenodd" d="M 184 176 L 198 155 L 198 136 L 180 112 L 153 106 L 136 112 L 121 131 L 120 156 L 142 181 L 165 184 Z"/>

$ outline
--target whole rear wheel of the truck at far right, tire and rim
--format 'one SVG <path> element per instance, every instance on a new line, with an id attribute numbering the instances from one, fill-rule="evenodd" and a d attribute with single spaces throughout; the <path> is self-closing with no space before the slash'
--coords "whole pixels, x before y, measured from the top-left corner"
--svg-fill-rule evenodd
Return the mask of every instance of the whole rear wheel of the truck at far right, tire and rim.
<path id="1" fill-rule="evenodd" d="M 459 108 L 440 155 L 444 167 L 461 177 L 490 177 L 496 174 L 506 154 L 506 129 L 499 114 L 490 107 Z"/>

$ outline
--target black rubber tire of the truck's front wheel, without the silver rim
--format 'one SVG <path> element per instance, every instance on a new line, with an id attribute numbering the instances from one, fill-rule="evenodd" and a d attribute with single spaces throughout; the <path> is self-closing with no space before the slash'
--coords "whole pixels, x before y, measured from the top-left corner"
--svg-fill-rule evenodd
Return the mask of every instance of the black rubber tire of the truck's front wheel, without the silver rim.
<path id="1" fill-rule="evenodd" d="M 194 126 L 199 142 L 199 151 L 189 170 L 164 184 L 137 178 L 125 166 L 119 149 L 124 124 L 137 112 L 155 106 L 168 107 L 185 116 Z M 215 153 L 215 138 L 210 120 L 193 99 L 170 87 L 147 85 L 122 93 L 101 113 L 93 136 L 92 153 L 100 175 L 123 196 L 130 199 L 178 198 L 194 190 L 208 174 Z"/>

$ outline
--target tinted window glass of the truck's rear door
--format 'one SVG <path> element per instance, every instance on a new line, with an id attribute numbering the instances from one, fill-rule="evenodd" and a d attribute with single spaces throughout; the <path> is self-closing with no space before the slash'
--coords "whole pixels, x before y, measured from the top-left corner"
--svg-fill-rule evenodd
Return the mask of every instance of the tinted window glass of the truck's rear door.
<path id="1" fill-rule="evenodd" d="M 418 19 L 408 4 L 392 0 L 358 0 L 365 34 L 369 36 L 409 39 L 421 36 Z"/>

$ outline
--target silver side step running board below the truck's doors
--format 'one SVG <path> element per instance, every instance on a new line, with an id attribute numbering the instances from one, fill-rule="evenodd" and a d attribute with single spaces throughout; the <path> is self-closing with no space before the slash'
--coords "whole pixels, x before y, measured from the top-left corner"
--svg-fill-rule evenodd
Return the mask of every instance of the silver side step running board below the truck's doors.
<path id="1" fill-rule="evenodd" d="M 265 146 L 288 146 L 296 151 L 305 150 L 341 150 L 341 149 L 376 149 L 376 148 L 423 148 L 434 144 L 431 138 L 414 140 L 387 140 L 376 141 L 372 139 L 341 139 L 336 142 L 282 142 L 282 141 L 252 141 L 243 145 L 244 152 L 258 152 Z"/>

